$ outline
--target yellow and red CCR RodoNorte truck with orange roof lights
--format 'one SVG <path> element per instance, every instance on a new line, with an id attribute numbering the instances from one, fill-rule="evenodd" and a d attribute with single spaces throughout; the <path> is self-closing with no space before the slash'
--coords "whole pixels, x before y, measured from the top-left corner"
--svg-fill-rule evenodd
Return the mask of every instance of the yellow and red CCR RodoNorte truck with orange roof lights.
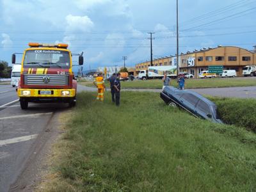
<path id="1" fill-rule="evenodd" d="M 72 72 L 72 56 L 79 56 L 79 65 L 83 65 L 83 52 L 72 55 L 68 44 L 28 45 L 22 55 L 17 88 L 20 108 L 27 109 L 29 102 L 65 102 L 75 106 L 77 81 Z M 15 60 L 12 54 L 12 63 Z"/>

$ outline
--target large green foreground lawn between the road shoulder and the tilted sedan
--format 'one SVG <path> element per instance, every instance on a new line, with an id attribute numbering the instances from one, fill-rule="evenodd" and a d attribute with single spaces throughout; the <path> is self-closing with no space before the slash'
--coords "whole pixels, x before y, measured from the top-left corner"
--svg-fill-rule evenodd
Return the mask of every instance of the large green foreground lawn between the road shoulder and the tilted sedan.
<path id="1" fill-rule="evenodd" d="M 110 100 L 79 93 L 46 191 L 256 189 L 254 133 L 169 108 L 158 93 Z"/>

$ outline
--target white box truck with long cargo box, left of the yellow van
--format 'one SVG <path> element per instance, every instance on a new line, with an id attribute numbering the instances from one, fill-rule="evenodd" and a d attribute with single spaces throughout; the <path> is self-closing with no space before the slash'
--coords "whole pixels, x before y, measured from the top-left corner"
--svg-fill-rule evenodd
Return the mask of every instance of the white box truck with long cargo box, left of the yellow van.
<path id="1" fill-rule="evenodd" d="M 176 66 L 156 66 L 148 67 L 148 70 L 140 70 L 139 79 L 161 79 L 164 76 L 164 72 L 167 73 L 168 77 L 177 77 Z"/>

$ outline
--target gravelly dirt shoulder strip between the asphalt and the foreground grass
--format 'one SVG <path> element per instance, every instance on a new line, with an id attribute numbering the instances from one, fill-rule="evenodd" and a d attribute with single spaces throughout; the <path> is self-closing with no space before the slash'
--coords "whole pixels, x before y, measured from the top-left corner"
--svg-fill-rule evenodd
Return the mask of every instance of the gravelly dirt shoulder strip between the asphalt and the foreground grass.
<path id="1" fill-rule="evenodd" d="M 52 115 L 47 127 L 38 135 L 35 145 L 22 172 L 17 180 L 11 185 L 10 191 L 35 191 L 38 185 L 44 180 L 44 175 L 49 172 L 49 159 L 51 159 L 52 146 L 60 138 L 63 130 L 61 113 Z"/>

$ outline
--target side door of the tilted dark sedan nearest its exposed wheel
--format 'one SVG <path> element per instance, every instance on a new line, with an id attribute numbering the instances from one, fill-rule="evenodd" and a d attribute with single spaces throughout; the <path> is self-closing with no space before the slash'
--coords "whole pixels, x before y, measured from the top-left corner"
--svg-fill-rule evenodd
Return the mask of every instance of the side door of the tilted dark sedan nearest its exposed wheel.
<path id="1" fill-rule="evenodd" d="M 195 113 L 195 106 L 198 100 L 198 97 L 191 93 L 184 93 L 179 99 L 180 106 L 182 106 L 182 108 L 186 109 L 195 116 L 197 116 L 197 114 Z"/>

